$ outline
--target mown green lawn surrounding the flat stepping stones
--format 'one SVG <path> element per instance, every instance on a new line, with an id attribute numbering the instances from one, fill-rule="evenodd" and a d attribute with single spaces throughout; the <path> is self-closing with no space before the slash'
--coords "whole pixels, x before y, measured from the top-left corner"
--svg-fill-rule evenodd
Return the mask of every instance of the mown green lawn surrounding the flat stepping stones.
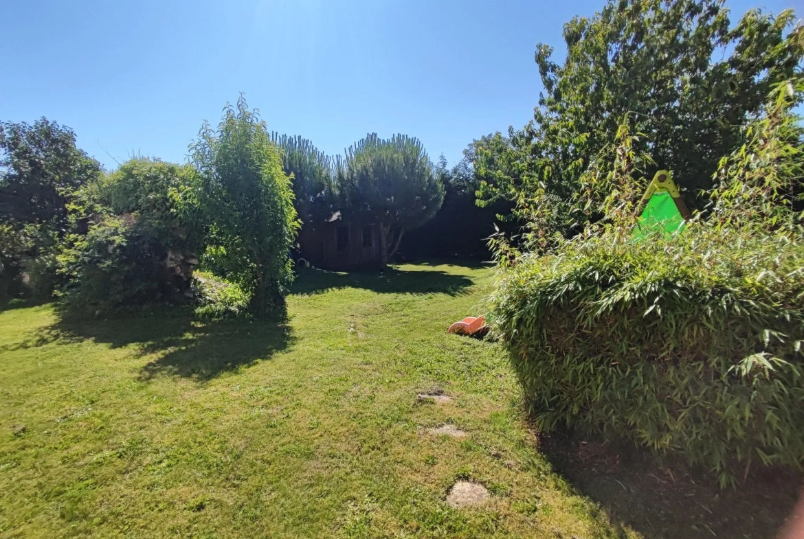
<path id="1" fill-rule="evenodd" d="M 445 333 L 490 278 L 308 270 L 279 326 L 0 312 L 0 537 L 638 537 L 552 472 L 498 347 Z M 490 504 L 445 504 L 459 478 Z"/>

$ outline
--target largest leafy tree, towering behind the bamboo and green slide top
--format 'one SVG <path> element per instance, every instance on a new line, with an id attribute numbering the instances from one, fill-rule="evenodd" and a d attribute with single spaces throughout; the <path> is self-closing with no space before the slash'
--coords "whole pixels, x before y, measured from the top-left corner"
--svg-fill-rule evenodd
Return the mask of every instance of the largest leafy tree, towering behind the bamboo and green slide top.
<path id="1" fill-rule="evenodd" d="M 609 0 L 573 18 L 563 64 L 536 48 L 544 93 L 531 123 L 476 144 L 482 200 L 514 200 L 518 217 L 565 235 L 599 219 L 606 194 L 582 178 L 612 169 L 623 131 L 647 177 L 671 169 L 687 198 L 708 190 L 720 157 L 742 144 L 741 126 L 798 70 L 804 28 L 793 22 L 791 10 L 750 10 L 731 27 L 722 0 Z"/>

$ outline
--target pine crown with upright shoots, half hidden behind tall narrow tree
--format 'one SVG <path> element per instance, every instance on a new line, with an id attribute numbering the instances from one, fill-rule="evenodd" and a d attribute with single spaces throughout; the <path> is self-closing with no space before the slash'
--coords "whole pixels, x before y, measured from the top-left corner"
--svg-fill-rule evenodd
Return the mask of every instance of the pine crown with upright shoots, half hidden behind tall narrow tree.
<path id="1" fill-rule="evenodd" d="M 293 204 L 301 222 L 329 217 L 336 205 L 334 159 L 306 138 L 273 132 L 271 140 L 282 149 L 282 169 L 293 182 Z"/>

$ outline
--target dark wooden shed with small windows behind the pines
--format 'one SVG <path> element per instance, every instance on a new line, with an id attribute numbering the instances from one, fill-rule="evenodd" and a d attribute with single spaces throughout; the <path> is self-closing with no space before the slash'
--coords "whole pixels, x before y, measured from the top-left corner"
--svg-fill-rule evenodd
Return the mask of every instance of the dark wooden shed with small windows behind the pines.
<path id="1" fill-rule="evenodd" d="M 344 220 L 340 211 L 322 223 L 305 223 L 298 243 L 299 255 L 314 267 L 379 267 L 379 226 Z"/>

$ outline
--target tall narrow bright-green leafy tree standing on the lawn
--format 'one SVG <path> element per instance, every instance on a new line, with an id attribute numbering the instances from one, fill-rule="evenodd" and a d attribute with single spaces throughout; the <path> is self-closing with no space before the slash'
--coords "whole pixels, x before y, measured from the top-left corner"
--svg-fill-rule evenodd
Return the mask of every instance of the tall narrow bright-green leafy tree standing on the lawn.
<path id="1" fill-rule="evenodd" d="M 229 276 L 250 296 L 255 314 L 285 314 L 292 279 L 289 249 L 299 227 L 281 149 L 241 96 L 215 131 L 204 123 L 191 146 L 209 241 Z"/>

